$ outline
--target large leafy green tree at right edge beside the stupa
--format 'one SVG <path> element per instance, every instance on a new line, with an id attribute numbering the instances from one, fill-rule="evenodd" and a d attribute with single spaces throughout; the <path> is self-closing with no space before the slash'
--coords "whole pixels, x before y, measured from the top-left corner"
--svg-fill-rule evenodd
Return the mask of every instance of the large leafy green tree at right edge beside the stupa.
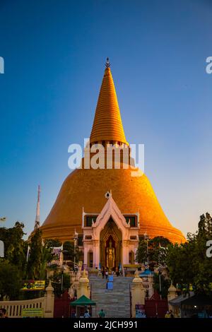
<path id="1" fill-rule="evenodd" d="M 188 234 L 184 244 L 170 246 L 167 268 L 173 283 L 185 292 L 192 284 L 194 292 L 212 295 L 212 261 L 206 256 L 206 242 L 212 239 L 211 215 L 201 215 L 198 232 Z"/>

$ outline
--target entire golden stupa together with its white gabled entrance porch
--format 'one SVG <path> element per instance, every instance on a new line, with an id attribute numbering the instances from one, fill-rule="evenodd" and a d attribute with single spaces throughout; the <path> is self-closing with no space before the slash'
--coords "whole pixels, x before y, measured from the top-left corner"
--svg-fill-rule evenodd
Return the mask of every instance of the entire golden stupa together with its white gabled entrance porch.
<path id="1" fill-rule="evenodd" d="M 107 60 L 98 103 L 95 110 L 89 147 L 108 144 L 129 150 Z M 92 155 L 93 153 L 90 152 Z M 57 199 L 42 224 L 42 236 L 61 242 L 78 234 L 83 264 L 88 268 L 105 266 L 117 269 L 134 263 L 139 237 L 166 237 L 171 242 L 185 242 L 180 230 L 167 219 L 153 187 L 145 174 L 131 176 L 131 162 L 119 160 L 120 167 L 108 169 L 84 167 L 73 170 L 61 186 Z"/>

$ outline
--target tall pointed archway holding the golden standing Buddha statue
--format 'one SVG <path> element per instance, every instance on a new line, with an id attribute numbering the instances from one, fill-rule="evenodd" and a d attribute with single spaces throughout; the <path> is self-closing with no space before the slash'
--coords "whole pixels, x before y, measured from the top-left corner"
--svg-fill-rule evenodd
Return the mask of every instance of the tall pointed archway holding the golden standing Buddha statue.
<path id="1" fill-rule="evenodd" d="M 111 217 L 100 232 L 100 264 L 111 271 L 122 265 L 122 232 Z"/>

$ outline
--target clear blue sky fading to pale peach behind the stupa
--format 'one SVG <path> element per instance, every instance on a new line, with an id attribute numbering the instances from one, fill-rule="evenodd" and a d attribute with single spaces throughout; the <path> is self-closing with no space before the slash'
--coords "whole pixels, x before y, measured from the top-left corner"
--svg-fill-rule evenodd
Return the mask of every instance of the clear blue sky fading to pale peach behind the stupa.
<path id="1" fill-rule="evenodd" d="M 212 212 L 210 0 L 1 0 L 0 216 L 34 227 L 69 174 L 68 146 L 90 136 L 110 57 L 126 138 L 167 217 L 195 232 Z"/>

